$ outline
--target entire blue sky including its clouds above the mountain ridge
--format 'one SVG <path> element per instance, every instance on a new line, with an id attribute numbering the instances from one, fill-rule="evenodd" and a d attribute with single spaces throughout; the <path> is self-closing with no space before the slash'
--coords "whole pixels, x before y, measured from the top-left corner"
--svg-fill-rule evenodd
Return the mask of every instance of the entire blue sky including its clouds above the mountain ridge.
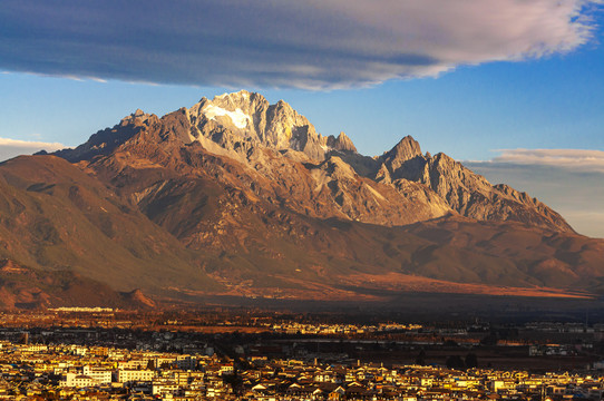
<path id="1" fill-rule="evenodd" d="M 604 237 L 602 26 L 582 0 L 7 0 L 0 158 L 244 88 L 366 155 L 412 135 Z"/>

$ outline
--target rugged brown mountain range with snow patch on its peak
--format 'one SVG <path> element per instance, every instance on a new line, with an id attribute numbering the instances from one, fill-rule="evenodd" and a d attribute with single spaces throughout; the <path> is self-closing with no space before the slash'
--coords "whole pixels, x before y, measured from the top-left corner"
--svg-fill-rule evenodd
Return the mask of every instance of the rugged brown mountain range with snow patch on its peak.
<path id="1" fill-rule="evenodd" d="M 40 277 L 25 288 L 0 274 L 9 306 L 78 303 L 66 288 L 82 281 L 146 306 L 604 292 L 604 241 L 538 199 L 411 136 L 363 156 L 245 90 L 136 110 L 74 149 L 0 164 L 0 260 Z"/>

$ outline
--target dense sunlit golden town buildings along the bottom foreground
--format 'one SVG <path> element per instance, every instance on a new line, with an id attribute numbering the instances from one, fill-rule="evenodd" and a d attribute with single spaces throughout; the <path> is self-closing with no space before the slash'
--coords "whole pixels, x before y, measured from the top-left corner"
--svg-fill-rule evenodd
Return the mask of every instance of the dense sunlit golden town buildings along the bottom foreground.
<path id="1" fill-rule="evenodd" d="M 601 400 L 581 374 L 308 363 L 0 342 L 0 400 Z"/>

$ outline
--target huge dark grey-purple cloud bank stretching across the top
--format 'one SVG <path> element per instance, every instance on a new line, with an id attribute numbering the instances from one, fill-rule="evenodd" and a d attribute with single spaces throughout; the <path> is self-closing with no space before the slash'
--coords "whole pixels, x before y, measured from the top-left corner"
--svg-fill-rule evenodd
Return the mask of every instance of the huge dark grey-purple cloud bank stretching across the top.
<path id="1" fill-rule="evenodd" d="M 591 0 L 6 0 L 0 68 L 96 79 L 340 88 L 590 41 Z"/>

